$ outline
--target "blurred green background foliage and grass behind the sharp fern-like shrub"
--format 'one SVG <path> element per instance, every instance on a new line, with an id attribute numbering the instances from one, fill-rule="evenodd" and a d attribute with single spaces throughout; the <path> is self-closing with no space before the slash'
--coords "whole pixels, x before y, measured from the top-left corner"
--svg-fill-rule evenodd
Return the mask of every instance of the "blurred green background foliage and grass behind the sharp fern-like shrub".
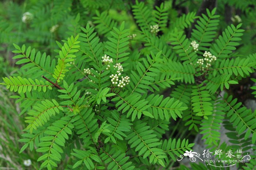
<path id="1" fill-rule="evenodd" d="M 189 37 L 193 24 L 188 25 L 182 20 L 182 15 L 194 12 L 202 14 L 205 8 L 217 7 L 220 15 L 220 27 L 218 34 L 230 25 L 230 23 L 243 23 L 245 29 L 241 37 L 241 45 L 237 52 L 247 56 L 256 52 L 256 12 L 255 0 L 147 0 L 149 8 L 165 3 L 168 8 L 168 27 L 180 25 Z M 57 41 L 67 39 L 70 35 L 76 35 L 80 26 L 87 23 L 96 26 L 100 38 L 102 34 L 108 34 L 108 26 L 121 23 L 123 20 L 130 28 L 131 33 L 137 28 L 132 17 L 131 5 L 134 0 L 2 0 L 0 1 L 0 76 L 19 75 L 22 72 L 15 66 L 12 43 L 46 52 L 51 57 L 56 53 Z M 33 15 L 33 18 L 24 22 L 25 12 Z M 241 20 L 236 19 L 238 15 Z M 101 28 L 100 20 L 109 17 L 109 22 Z M 183 23 L 181 22 L 183 21 Z M 98 27 L 97 27 L 98 26 Z M 163 30 L 168 33 L 170 29 Z M 169 37 L 166 37 L 169 39 Z M 0 79 L 2 81 L 2 79 Z M 233 88 L 236 93 L 236 88 Z M 10 98 L 13 95 L 3 86 L 0 86 L 0 170 L 1 169 L 38 169 L 36 161 L 38 153 L 22 152 L 19 154 L 22 144 L 18 142 L 22 135 L 21 129 L 25 128 L 23 117 L 20 113 L 19 103 Z M 182 129 L 178 128 L 178 131 Z M 181 133 L 181 132 L 178 132 Z M 32 165 L 26 167 L 24 160 L 31 159 Z M 64 165 L 63 165 L 64 166 Z M 63 169 L 59 167 L 59 169 Z"/>

